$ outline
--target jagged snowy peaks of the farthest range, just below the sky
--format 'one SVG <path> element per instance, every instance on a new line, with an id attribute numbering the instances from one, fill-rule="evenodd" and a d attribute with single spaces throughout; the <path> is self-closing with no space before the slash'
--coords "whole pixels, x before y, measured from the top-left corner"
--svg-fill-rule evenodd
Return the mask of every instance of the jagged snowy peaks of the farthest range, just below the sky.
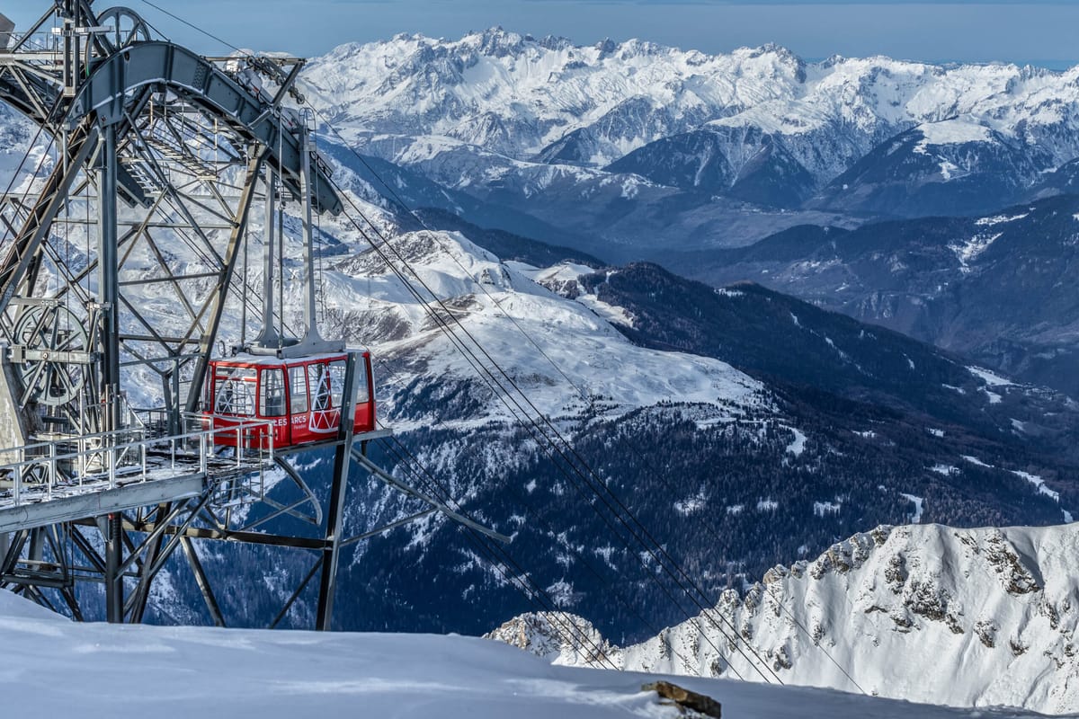
<path id="1" fill-rule="evenodd" d="M 504 149 L 521 160 L 591 128 L 595 164 L 708 122 L 782 135 L 847 127 L 849 140 L 864 144 L 971 113 L 998 130 L 1033 137 L 1073 116 L 1079 95 L 1068 73 L 1011 65 L 806 63 L 777 45 L 725 55 L 641 40 L 575 46 L 501 28 L 455 41 L 398 36 L 343 45 L 312 63 L 305 79 L 324 102 L 369 132 L 464 139 L 462 127 L 496 117 L 507 128 Z M 600 141 L 597 123 L 630 100 L 652 108 L 638 115 L 638 134 Z M 651 113 L 681 122 L 659 134 Z"/>

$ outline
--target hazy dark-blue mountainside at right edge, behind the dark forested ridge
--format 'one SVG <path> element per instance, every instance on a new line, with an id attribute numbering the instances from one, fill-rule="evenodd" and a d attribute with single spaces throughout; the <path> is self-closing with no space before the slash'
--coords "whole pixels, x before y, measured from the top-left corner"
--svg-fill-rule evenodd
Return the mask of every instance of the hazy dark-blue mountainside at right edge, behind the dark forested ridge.
<path id="1" fill-rule="evenodd" d="M 1077 218 L 1068 194 L 974 218 L 795 227 L 668 263 L 719 285 L 761 282 L 1075 397 Z"/>

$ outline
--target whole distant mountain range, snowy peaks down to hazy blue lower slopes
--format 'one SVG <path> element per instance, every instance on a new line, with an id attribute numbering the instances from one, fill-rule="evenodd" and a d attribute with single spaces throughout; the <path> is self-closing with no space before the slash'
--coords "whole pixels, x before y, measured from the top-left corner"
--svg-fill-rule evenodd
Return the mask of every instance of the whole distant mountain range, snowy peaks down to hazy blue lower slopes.
<path id="1" fill-rule="evenodd" d="M 821 212 L 849 225 L 1017 202 L 1079 156 L 1077 78 L 494 28 L 342 45 L 304 82 L 350 143 L 487 206 L 466 219 L 529 234 L 491 207 L 511 210 L 623 261 L 741 245 Z"/>

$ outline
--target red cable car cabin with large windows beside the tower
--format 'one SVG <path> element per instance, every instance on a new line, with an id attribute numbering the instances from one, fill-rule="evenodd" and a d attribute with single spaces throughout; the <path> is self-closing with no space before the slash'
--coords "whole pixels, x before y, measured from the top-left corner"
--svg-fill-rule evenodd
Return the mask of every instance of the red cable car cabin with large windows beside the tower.
<path id="1" fill-rule="evenodd" d="M 355 431 L 374 429 L 371 355 L 355 352 Z M 215 429 L 242 421 L 273 423 L 275 450 L 337 439 L 341 427 L 346 352 L 278 359 L 242 355 L 210 360 L 203 416 Z M 256 431 L 265 435 L 264 429 Z M 236 446 L 235 433 L 215 435 L 215 444 Z M 269 446 L 269 442 L 259 442 Z M 245 441 L 245 445 L 247 442 Z"/>

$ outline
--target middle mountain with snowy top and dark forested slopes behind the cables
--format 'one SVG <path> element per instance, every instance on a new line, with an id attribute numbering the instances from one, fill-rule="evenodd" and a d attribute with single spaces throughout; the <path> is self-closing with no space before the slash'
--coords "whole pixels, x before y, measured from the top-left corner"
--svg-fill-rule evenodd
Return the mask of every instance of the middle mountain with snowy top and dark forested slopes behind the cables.
<path id="1" fill-rule="evenodd" d="M 559 471 L 513 402 L 479 378 L 385 262 L 344 226 L 326 221 L 323 230 L 341 243 L 324 258 L 324 333 L 371 347 L 384 421 L 447 493 L 511 535 L 511 556 L 560 606 L 591 612 L 612 636 L 641 638 L 651 625 L 684 619 L 640 549 L 611 535 L 610 517 L 596 513 L 572 472 Z M 481 362 L 496 361 L 667 550 L 697 567 L 709 596 L 865 526 L 1056 523 L 1077 506 L 1073 469 L 1013 423 L 1025 417 L 1033 432 L 1048 421 L 1041 415 L 1056 421 L 1075 412 L 1033 388 L 996 387 L 992 375 L 931 347 L 760 288 L 694 285 L 726 304 L 686 304 L 670 286 L 682 291 L 685 280 L 667 276 L 665 285 L 637 267 L 502 262 L 460 233 L 385 231 L 383 251 L 408 259 L 442 301 L 439 312 L 488 350 Z M 742 324 L 722 320 L 721 309 Z M 713 317 L 718 324 L 695 324 Z M 227 343 L 234 319 L 222 330 Z M 715 328 L 726 333 L 722 351 L 684 344 Z M 796 359 L 802 374 L 782 379 L 777 368 L 789 363 L 779 358 Z M 845 397 L 844 385 L 856 393 Z M 416 481 L 391 450 L 372 453 Z M 316 484 L 327 468 L 318 458 L 305 465 Z M 415 511 L 379 483 L 357 482 L 353 493 L 347 520 L 357 533 Z M 306 569 L 302 558 L 275 557 L 271 571 L 254 555 L 217 551 L 203 563 L 265 579 L 221 599 L 242 623 L 259 621 L 264 586 L 287 594 L 281 576 Z M 342 628 L 478 633 L 530 606 L 437 517 L 358 547 L 340 587 L 349 597 L 339 606 Z M 196 599 L 180 591 L 166 616 L 200 621 Z M 308 625 L 310 610 L 301 599 L 288 621 Z"/>

